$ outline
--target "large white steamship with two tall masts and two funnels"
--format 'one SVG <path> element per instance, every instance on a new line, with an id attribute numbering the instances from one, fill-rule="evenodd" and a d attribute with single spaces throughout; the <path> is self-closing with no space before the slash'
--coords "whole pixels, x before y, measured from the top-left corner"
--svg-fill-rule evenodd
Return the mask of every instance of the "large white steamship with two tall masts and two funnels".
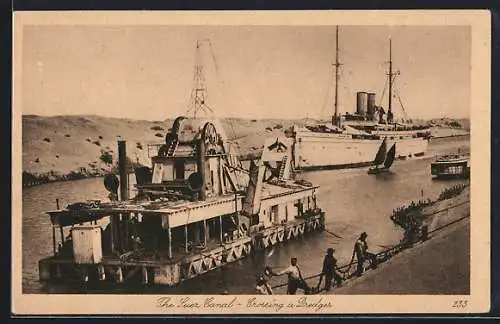
<path id="1" fill-rule="evenodd" d="M 297 170 L 341 169 L 368 166 L 382 141 L 397 143 L 397 159 L 422 156 L 427 150 L 430 128 L 403 120 L 392 110 L 393 85 L 399 71 L 393 71 L 392 42 L 389 41 L 388 109 L 375 105 L 375 93 L 358 92 L 356 113 L 338 112 L 339 30 L 336 30 L 335 113 L 331 123 L 294 125 L 294 163 Z M 403 108 L 404 109 L 404 108 Z"/>

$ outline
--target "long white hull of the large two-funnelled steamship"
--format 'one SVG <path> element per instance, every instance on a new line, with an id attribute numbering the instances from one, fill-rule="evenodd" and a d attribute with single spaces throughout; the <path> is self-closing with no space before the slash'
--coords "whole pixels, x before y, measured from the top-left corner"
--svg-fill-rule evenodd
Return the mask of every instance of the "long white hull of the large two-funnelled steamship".
<path id="1" fill-rule="evenodd" d="M 347 134 L 296 132 L 295 168 L 307 170 L 367 166 L 372 163 L 382 140 L 383 137 L 354 139 Z M 396 158 L 407 159 L 424 155 L 428 140 L 422 137 L 388 136 L 388 146 L 393 143 L 396 143 Z"/>

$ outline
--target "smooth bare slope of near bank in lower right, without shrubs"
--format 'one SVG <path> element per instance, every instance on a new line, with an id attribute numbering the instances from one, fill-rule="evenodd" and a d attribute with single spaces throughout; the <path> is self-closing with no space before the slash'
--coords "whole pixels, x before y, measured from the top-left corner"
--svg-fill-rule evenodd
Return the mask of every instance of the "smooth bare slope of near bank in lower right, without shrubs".
<path id="1" fill-rule="evenodd" d="M 332 294 L 469 294 L 470 224 L 451 225 Z"/>

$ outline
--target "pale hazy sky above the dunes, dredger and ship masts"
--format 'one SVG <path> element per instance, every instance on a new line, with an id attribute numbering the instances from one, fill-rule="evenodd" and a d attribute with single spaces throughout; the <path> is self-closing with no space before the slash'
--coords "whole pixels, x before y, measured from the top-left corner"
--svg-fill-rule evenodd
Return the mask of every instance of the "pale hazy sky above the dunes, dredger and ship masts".
<path id="1" fill-rule="evenodd" d="M 164 120 L 189 107 L 197 40 L 217 117 L 333 113 L 335 26 L 24 26 L 23 114 Z M 339 110 L 387 106 L 389 38 L 409 118 L 470 116 L 468 26 L 340 26 Z M 403 110 L 393 101 L 396 116 Z"/>

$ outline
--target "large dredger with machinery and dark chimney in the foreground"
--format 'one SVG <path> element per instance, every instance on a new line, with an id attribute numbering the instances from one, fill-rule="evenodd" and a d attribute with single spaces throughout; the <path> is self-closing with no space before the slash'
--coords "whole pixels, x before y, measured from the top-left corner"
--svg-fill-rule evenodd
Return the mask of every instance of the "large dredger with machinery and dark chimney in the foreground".
<path id="1" fill-rule="evenodd" d="M 244 169 L 216 121 L 178 117 L 151 167 L 135 168 L 129 198 L 126 142 L 120 177 L 105 185 L 119 200 L 48 211 L 53 255 L 40 280 L 142 282 L 174 286 L 256 250 L 324 228 L 318 190 L 297 180 L 292 139 L 270 138 Z"/>

